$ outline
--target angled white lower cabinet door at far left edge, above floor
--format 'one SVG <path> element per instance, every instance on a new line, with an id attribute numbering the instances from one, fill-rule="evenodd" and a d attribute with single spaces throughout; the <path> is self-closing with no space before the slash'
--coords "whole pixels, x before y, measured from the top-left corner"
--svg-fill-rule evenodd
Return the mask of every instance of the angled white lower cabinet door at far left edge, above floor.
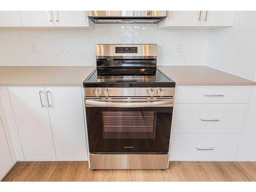
<path id="1" fill-rule="evenodd" d="M 0 116 L 0 181 L 12 167 L 12 158 Z"/>

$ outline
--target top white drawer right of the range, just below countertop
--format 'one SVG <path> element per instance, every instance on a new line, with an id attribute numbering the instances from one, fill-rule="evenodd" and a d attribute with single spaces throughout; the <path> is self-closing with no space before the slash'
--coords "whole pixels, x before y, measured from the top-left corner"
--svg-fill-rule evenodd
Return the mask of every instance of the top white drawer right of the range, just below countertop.
<path id="1" fill-rule="evenodd" d="M 177 86 L 176 103 L 247 103 L 251 86 Z"/>

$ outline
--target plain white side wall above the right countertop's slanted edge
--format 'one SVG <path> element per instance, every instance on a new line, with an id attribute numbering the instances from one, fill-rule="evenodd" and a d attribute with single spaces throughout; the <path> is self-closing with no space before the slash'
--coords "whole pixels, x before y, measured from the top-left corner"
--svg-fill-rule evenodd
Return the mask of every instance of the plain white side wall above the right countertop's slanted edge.
<path id="1" fill-rule="evenodd" d="M 206 66 L 253 80 L 256 71 L 256 11 L 237 11 L 234 26 L 210 30 Z"/>

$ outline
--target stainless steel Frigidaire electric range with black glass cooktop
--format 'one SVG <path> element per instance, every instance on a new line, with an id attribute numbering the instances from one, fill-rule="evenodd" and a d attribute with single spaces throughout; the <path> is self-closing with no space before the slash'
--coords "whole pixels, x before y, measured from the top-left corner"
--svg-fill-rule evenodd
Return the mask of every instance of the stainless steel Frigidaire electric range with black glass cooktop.
<path id="1" fill-rule="evenodd" d="M 175 82 L 157 69 L 157 45 L 96 45 L 83 82 L 91 169 L 168 167 Z"/>

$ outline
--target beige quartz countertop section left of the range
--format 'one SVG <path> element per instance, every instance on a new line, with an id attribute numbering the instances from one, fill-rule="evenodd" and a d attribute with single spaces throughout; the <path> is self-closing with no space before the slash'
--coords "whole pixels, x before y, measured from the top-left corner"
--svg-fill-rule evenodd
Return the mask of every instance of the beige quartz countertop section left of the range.
<path id="1" fill-rule="evenodd" d="M 82 86 L 95 66 L 0 67 L 0 86 Z"/>

